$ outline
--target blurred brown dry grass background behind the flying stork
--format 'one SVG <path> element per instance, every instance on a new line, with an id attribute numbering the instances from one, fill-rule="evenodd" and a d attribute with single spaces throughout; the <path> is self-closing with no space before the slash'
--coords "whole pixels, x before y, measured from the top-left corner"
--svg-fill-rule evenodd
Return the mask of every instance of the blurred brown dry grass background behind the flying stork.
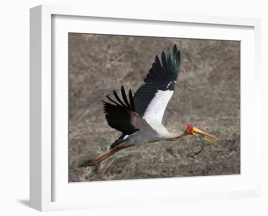
<path id="1" fill-rule="evenodd" d="M 177 44 L 181 70 L 163 124 L 171 132 L 192 124 L 220 138 L 219 148 L 192 136 L 115 153 L 95 167 L 84 159 L 108 151 L 120 135 L 102 103 L 120 86 L 133 92 L 154 56 Z M 231 41 L 69 34 L 69 181 L 98 181 L 240 173 L 240 43 Z"/>

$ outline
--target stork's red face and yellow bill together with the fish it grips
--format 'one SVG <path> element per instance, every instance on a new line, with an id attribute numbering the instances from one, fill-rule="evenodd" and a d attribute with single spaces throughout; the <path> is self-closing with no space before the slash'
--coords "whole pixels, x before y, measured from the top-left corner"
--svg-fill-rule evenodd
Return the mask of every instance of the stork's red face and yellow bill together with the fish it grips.
<path id="1" fill-rule="evenodd" d="M 206 132 L 204 132 L 202 130 L 199 130 L 199 129 L 193 127 L 192 125 L 186 125 L 185 126 L 185 129 L 186 129 L 186 133 L 187 134 L 198 136 L 200 138 L 200 140 L 201 140 L 201 143 L 202 143 L 201 150 L 198 151 L 198 152 L 195 152 L 193 157 L 197 157 L 197 155 L 204 149 L 205 141 L 208 141 L 211 144 L 213 144 L 213 145 L 215 145 L 215 146 L 218 147 L 218 144 L 217 143 L 211 141 L 210 139 L 206 138 L 205 136 L 209 136 L 209 137 L 211 137 L 213 139 L 219 140 L 217 137 L 215 137 L 215 136 L 213 136 L 213 135 L 211 135 L 209 133 L 206 133 Z"/>

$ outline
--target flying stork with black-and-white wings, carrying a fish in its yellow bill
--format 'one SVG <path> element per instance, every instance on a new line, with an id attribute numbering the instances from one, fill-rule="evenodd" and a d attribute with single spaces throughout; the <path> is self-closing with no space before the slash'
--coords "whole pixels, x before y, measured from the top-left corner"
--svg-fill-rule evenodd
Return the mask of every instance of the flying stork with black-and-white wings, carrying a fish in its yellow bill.
<path id="1" fill-rule="evenodd" d="M 113 92 L 115 99 L 106 95 L 109 103 L 102 102 L 107 123 L 111 128 L 121 131 L 122 135 L 110 146 L 110 151 L 96 159 L 82 162 L 80 167 L 97 165 L 122 149 L 161 140 L 174 141 L 185 135 L 200 137 L 201 141 L 204 141 L 202 149 L 205 140 L 215 144 L 205 136 L 214 139 L 218 139 L 217 137 L 192 125 L 186 125 L 183 130 L 175 133 L 169 132 L 162 125 L 162 118 L 173 95 L 180 69 L 180 51 L 177 51 L 176 45 L 173 46 L 172 53 L 170 48 L 167 49 L 166 54 L 162 51 L 161 62 L 156 55 L 155 62 L 144 79 L 144 84 L 138 88 L 134 96 L 130 89 L 127 97 L 123 86 L 121 86 L 122 99 L 115 90 Z"/>

